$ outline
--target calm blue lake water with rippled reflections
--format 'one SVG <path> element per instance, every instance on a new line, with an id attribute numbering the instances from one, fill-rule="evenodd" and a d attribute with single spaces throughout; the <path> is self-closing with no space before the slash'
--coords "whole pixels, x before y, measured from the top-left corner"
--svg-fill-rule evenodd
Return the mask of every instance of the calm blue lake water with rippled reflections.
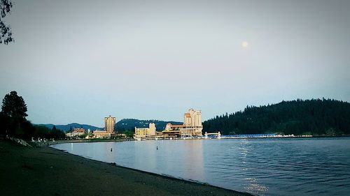
<path id="1" fill-rule="evenodd" d="M 350 195 L 350 137 L 102 142 L 54 147 L 254 195 Z"/>

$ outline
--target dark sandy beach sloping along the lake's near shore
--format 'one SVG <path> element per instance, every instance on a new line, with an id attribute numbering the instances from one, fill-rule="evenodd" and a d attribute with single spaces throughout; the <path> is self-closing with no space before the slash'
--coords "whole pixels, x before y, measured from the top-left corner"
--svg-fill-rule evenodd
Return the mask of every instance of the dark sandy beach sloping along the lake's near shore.
<path id="1" fill-rule="evenodd" d="M 249 195 L 0 140 L 1 195 Z"/>

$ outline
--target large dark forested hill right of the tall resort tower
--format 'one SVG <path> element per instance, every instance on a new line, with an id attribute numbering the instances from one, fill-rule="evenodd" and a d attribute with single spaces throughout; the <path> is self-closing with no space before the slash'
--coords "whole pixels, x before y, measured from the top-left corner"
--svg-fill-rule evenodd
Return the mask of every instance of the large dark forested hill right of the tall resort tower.
<path id="1" fill-rule="evenodd" d="M 292 100 L 246 107 L 203 123 L 203 133 L 223 135 L 283 133 L 286 135 L 350 135 L 350 103 L 339 100 Z"/>

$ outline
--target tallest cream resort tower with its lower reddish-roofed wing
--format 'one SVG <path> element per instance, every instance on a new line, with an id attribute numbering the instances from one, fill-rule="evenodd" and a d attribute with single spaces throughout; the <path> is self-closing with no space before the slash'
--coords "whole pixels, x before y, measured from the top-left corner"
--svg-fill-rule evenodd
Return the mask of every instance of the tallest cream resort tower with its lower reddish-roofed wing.
<path id="1" fill-rule="evenodd" d="M 202 129 L 202 111 L 192 108 L 183 114 L 183 125 L 167 123 L 165 126 L 165 131 L 181 131 L 182 137 L 202 136 Z"/>

